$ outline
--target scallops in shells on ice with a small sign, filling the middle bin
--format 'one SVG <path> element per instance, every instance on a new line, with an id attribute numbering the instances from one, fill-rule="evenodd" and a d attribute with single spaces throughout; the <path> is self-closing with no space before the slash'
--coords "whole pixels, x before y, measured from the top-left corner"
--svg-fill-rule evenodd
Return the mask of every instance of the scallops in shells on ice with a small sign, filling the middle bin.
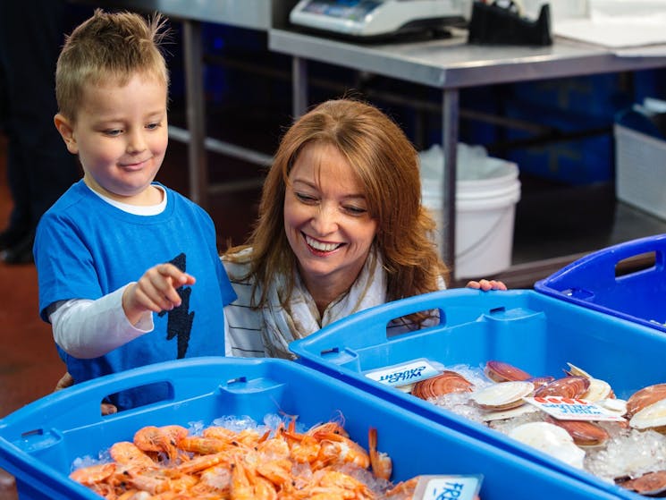
<path id="1" fill-rule="evenodd" d="M 443 367 L 455 384 L 421 380 L 411 394 L 638 494 L 666 495 L 666 384 L 625 401 L 584 369 L 562 369 L 553 377 L 502 360 Z"/>

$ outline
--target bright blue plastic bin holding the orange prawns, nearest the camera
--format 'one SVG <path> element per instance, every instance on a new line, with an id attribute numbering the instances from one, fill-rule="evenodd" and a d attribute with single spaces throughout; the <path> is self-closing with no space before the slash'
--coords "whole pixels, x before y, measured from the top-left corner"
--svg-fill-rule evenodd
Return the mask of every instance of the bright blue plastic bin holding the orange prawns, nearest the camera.
<path id="1" fill-rule="evenodd" d="M 167 383 L 173 397 L 101 417 L 99 402 L 110 393 Z M 0 420 L 0 467 L 17 479 L 25 498 L 99 498 L 68 478 L 72 461 L 116 441 L 131 440 L 146 425 L 205 425 L 225 415 L 298 415 L 314 425 L 341 415 L 344 427 L 367 447 L 378 431 L 380 451 L 393 460 L 394 480 L 418 474 L 483 474 L 484 500 L 511 498 L 613 498 L 598 488 L 512 456 L 453 429 L 365 394 L 286 360 L 198 358 L 160 363 L 100 377 L 50 394 Z"/>

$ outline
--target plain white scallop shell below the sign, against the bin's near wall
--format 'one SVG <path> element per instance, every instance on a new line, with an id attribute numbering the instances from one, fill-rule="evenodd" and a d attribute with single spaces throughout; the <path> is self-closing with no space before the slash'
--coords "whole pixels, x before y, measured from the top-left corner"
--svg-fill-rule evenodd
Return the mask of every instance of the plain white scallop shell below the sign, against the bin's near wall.
<path id="1" fill-rule="evenodd" d="M 509 436 L 569 465 L 583 469 L 585 451 L 574 444 L 573 438 L 563 428 L 548 422 L 529 422 L 512 429 Z"/>

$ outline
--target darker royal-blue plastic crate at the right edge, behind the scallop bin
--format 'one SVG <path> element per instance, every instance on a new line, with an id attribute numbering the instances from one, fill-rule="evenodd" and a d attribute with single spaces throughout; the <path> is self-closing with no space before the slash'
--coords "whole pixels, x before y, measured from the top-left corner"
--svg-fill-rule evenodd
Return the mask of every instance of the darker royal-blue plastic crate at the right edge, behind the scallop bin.
<path id="1" fill-rule="evenodd" d="M 666 234 L 598 250 L 535 283 L 535 290 L 666 333 Z M 640 258 L 647 262 L 639 266 Z M 636 269 L 628 274 L 624 267 Z M 620 265 L 620 266 L 619 266 Z"/>

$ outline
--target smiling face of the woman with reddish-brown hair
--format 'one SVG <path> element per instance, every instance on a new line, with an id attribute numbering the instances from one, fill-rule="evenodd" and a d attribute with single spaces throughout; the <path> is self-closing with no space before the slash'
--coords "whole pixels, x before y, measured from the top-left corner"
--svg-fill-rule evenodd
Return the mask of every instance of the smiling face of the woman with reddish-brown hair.
<path id="1" fill-rule="evenodd" d="M 289 174 L 284 229 L 308 289 L 344 292 L 366 262 L 377 222 L 356 174 L 330 144 L 309 144 Z M 323 281 L 325 280 L 325 281 Z"/>

